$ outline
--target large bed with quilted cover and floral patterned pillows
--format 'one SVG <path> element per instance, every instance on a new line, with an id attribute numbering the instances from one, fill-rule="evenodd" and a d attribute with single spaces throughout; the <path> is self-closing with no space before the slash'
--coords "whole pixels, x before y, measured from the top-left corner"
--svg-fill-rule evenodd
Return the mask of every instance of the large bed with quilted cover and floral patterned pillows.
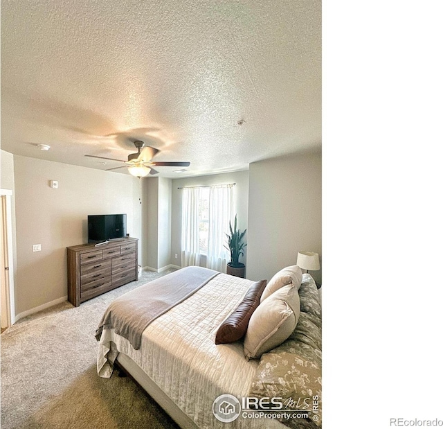
<path id="1" fill-rule="evenodd" d="M 167 285 L 169 282 L 168 287 L 170 287 L 174 281 L 177 281 L 177 276 L 192 270 L 206 270 L 206 274 L 209 274 L 208 280 L 203 281 L 192 292 L 186 292 L 177 298 L 177 303 L 168 302 L 168 305 L 159 311 L 159 315 L 141 329 L 138 343 L 123 332 L 127 329 L 127 321 L 122 326 L 116 326 L 116 322 L 109 322 L 109 319 L 103 322 L 105 315 L 103 316 L 96 335 L 99 341 L 98 375 L 110 377 L 114 365 L 118 363 L 182 428 L 321 427 L 320 406 L 318 406 L 321 405 L 321 399 L 320 401 L 316 399 L 319 393 L 318 385 L 321 383 L 321 340 L 318 338 L 321 315 L 315 283 L 311 276 L 302 274 L 301 279 L 300 274 L 298 294 L 300 294 L 301 312 L 296 321 L 298 329 L 293 330 L 287 340 L 263 353 L 260 358 L 247 359 L 245 338 L 227 344 L 215 344 L 215 338 L 221 325 L 244 303 L 245 295 L 248 296 L 248 291 L 254 284 L 257 285 L 257 282 L 213 272 L 206 268 L 188 267 L 154 281 L 156 283 L 150 282 L 127 292 L 116 299 L 117 304 L 122 300 L 127 304 L 138 290 L 148 296 L 152 290 L 162 289 L 163 281 L 166 281 Z M 275 274 L 277 275 L 278 273 Z M 271 283 L 272 279 L 266 288 Z M 265 289 L 265 291 L 268 295 L 274 293 L 273 290 Z M 303 298 L 303 291 L 307 292 L 306 299 Z M 113 308 L 117 308 L 116 301 L 111 304 Z M 140 295 L 135 301 L 136 303 L 141 301 Z M 261 305 L 259 302 L 258 307 L 255 306 L 252 315 L 258 313 L 257 308 Z M 313 309 L 315 315 L 311 316 L 309 312 Z M 127 310 L 125 312 L 127 313 Z M 303 313 L 306 313 L 307 319 Z M 118 311 L 115 318 L 118 318 Z M 140 319 L 140 317 L 133 318 Z M 309 338 L 312 326 L 317 327 L 314 340 Z M 282 377 L 278 372 L 282 369 L 280 365 L 282 362 L 288 365 L 287 356 L 296 356 L 296 359 L 293 364 L 289 363 L 289 372 L 284 369 Z M 275 374 L 272 374 L 272 368 L 275 369 Z M 305 368 L 308 368 L 308 378 L 314 380 L 316 384 L 314 390 L 311 386 L 306 386 Z M 300 369 L 303 373 L 301 375 Z M 297 377 L 296 382 L 291 379 L 294 376 Z M 275 383 L 275 380 L 280 381 Z M 302 380 L 301 386 L 298 380 Z M 288 389 L 288 383 L 289 387 L 295 387 L 296 390 Z M 275 387 L 279 384 L 281 388 Z M 251 396 L 257 399 L 278 396 L 281 401 L 286 402 L 293 399 L 293 392 L 298 395 L 298 403 L 294 401 L 290 404 L 285 403 L 284 408 L 292 405 L 290 408 L 305 410 L 305 405 L 309 403 L 310 410 L 314 409 L 315 414 L 310 412 L 308 419 L 305 419 L 307 414 L 293 414 L 291 418 L 286 416 L 275 418 L 276 411 L 270 411 L 266 412 L 266 417 L 271 415 L 273 417 L 264 418 L 258 411 L 246 410 L 248 414 L 243 415 L 245 408 L 242 402 L 240 405 L 242 412 L 238 418 L 226 423 L 223 419 L 216 418 L 213 412 L 215 400 L 221 395 L 231 395 L 238 401 L 244 401 L 244 398 Z M 308 400 L 306 396 L 309 397 Z M 314 403 L 309 402 L 313 401 L 312 398 L 315 399 Z M 264 407 L 266 408 L 266 401 Z"/>

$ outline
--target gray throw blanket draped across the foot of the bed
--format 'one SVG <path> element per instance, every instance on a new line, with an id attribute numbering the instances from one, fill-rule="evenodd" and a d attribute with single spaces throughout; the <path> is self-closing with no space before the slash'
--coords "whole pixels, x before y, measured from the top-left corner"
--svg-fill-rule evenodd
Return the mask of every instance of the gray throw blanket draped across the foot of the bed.
<path id="1" fill-rule="evenodd" d="M 219 272 L 201 267 L 186 267 L 146 283 L 115 299 L 103 315 L 96 339 L 103 329 L 115 329 L 138 350 L 147 326 L 170 308 L 202 288 Z"/>

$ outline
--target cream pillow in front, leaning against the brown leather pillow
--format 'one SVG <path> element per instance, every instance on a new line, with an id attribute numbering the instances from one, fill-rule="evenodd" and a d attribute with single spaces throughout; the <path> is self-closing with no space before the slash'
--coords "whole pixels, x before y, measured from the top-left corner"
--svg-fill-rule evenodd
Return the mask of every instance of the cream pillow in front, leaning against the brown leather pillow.
<path id="1" fill-rule="evenodd" d="M 298 288 L 283 286 L 254 311 L 244 338 L 244 355 L 248 359 L 260 358 L 287 340 L 296 329 L 300 317 Z"/>

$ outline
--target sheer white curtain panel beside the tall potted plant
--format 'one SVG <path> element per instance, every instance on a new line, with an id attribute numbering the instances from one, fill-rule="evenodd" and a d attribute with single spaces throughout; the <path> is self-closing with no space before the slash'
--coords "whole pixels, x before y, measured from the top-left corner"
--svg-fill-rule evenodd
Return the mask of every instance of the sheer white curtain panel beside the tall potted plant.
<path id="1" fill-rule="evenodd" d="M 225 249 L 229 221 L 234 213 L 233 185 L 210 186 L 209 191 L 209 238 L 206 268 L 226 272 L 230 254 Z"/>

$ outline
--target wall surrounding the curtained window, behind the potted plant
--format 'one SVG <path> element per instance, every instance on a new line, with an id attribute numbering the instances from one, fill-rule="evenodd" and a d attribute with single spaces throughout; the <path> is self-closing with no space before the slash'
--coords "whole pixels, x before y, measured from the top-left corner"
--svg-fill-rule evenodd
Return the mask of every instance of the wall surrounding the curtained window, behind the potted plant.
<path id="1" fill-rule="evenodd" d="M 237 213 L 237 227 L 242 231 L 248 227 L 248 171 L 222 173 L 197 177 L 185 177 L 172 180 L 172 223 L 171 223 L 171 263 L 181 266 L 181 190 L 186 186 L 207 186 L 215 184 L 235 183 L 234 213 Z M 246 231 L 246 243 L 248 240 Z M 240 259 L 241 262 L 246 261 Z M 175 255 L 177 254 L 177 259 Z"/>

